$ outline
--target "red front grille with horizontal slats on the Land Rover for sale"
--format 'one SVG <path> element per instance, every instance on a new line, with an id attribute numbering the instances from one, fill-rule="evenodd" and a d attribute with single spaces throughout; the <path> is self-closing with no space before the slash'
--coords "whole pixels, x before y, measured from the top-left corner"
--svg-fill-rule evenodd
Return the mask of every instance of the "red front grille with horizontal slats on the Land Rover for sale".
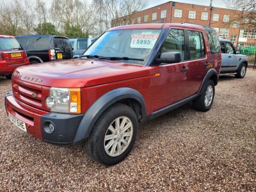
<path id="1" fill-rule="evenodd" d="M 49 111 L 44 103 L 45 98 L 49 95 L 48 87 L 12 78 L 12 92 L 13 96 L 19 101 L 32 107 Z"/>

